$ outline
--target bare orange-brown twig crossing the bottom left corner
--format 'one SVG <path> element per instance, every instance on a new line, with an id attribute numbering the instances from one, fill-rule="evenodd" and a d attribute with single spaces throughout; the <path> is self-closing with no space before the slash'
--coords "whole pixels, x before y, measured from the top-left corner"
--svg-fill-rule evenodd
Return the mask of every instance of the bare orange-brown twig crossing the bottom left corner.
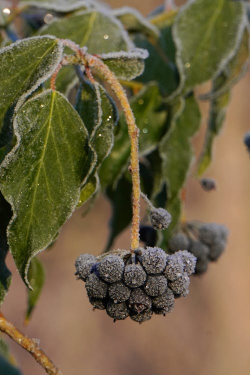
<path id="1" fill-rule="evenodd" d="M 21 333 L 12 323 L 5 319 L 1 312 L 0 330 L 23 347 L 23 349 L 27 350 L 49 375 L 61 375 L 61 371 L 55 367 L 44 351 L 39 348 L 36 340 Z"/>

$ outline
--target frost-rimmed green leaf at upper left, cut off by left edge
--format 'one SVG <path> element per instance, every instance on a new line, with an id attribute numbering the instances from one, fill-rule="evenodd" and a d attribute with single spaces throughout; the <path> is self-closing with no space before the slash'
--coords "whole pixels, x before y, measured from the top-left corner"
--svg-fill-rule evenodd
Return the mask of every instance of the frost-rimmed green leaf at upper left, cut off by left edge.
<path id="1" fill-rule="evenodd" d="M 43 82 L 60 62 L 62 46 L 53 36 L 35 36 L 18 40 L 0 50 L 0 146 L 11 138 L 8 115 L 11 105 L 21 95 L 29 95 Z M 7 117 L 7 118 L 5 118 Z"/>

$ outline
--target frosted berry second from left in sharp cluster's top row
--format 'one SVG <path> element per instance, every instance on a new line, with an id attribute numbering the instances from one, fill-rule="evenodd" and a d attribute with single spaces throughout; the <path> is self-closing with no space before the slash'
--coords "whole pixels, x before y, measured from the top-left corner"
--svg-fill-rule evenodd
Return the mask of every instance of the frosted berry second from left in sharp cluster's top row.
<path id="1" fill-rule="evenodd" d="M 98 264 L 98 272 L 102 280 L 115 282 L 122 279 L 124 270 L 123 259 L 117 255 L 106 255 Z"/>

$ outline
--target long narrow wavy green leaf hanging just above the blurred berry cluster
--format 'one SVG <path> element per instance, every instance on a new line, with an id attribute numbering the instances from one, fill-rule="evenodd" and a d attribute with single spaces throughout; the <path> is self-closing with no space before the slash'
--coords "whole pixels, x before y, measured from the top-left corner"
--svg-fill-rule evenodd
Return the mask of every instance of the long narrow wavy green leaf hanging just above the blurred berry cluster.
<path id="1" fill-rule="evenodd" d="M 159 144 L 162 175 L 167 186 L 165 208 L 172 215 L 171 224 L 164 236 L 170 235 L 179 219 L 180 189 L 185 182 L 193 156 L 190 138 L 198 130 L 199 124 L 200 111 L 193 94 L 185 101 L 179 99 L 172 113 L 171 127 Z"/>

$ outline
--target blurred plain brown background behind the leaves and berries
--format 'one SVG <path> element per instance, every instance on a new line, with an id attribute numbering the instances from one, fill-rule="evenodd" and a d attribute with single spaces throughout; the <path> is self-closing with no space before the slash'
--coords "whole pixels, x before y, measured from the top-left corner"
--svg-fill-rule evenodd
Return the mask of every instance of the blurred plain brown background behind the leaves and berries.
<path id="1" fill-rule="evenodd" d="M 107 2 L 143 14 L 161 4 Z M 106 242 L 110 206 L 104 197 L 84 218 L 84 207 L 76 210 L 52 249 L 39 255 L 46 282 L 28 326 L 23 324 L 25 286 L 8 257 L 13 279 L 2 312 L 25 334 L 40 339 L 63 375 L 249 375 L 250 158 L 242 142 L 250 129 L 249 85 L 250 72 L 233 89 L 216 140 L 206 176 L 215 178 L 217 189 L 207 193 L 191 177 L 187 186 L 187 219 L 224 223 L 230 230 L 228 246 L 204 275 L 192 276 L 189 295 L 176 300 L 165 318 L 154 315 L 141 325 L 129 319 L 113 323 L 104 311 L 92 311 L 84 283 L 75 280 L 75 258 L 83 252 L 99 254 Z M 201 109 L 204 128 L 206 105 Z M 200 135 L 194 139 L 197 150 L 201 140 Z M 115 242 L 115 247 L 127 246 L 129 229 Z M 8 342 L 23 375 L 45 373 L 30 354 Z"/>

